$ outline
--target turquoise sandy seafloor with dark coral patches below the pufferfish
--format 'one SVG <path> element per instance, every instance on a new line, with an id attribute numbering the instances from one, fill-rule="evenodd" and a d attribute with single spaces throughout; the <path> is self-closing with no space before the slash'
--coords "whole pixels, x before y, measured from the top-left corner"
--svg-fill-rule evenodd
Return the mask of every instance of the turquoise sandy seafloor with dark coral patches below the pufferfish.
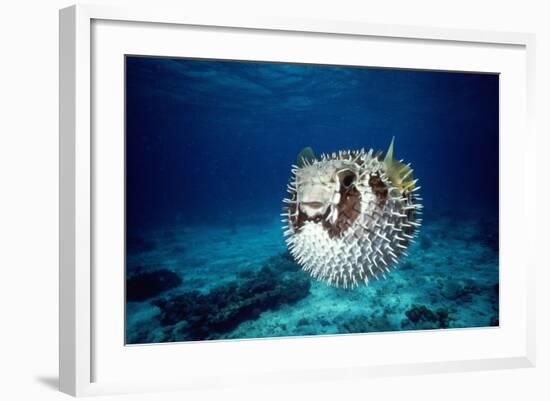
<path id="1" fill-rule="evenodd" d="M 498 325 L 494 220 L 425 218 L 409 256 L 353 290 L 300 270 L 270 216 L 151 230 L 129 241 L 128 283 L 170 272 L 157 277 L 164 284 L 155 293 L 127 303 L 129 344 Z M 141 290 L 134 282 L 131 291 Z"/>

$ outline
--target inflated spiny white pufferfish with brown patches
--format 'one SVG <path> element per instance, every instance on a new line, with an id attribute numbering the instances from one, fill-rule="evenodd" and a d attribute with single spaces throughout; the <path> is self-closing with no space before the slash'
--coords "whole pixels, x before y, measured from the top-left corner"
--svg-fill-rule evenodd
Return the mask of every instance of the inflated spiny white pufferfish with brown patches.
<path id="1" fill-rule="evenodd" d="M 382 151 L 315 156 L 305 148 L 292 166 L 284 199 L 290 253 L 315 279 L 355 288 L 399 264 L 421 225 L 420 186 L 410 164 Z"/>

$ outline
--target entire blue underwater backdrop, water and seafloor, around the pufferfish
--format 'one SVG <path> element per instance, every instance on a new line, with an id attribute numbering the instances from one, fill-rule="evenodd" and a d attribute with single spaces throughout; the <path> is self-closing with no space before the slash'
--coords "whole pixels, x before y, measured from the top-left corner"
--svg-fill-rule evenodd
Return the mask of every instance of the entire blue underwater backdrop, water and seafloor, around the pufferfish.
<path id="1" fill-rule="evenodd" d="M 126 58 L 128 343 L 498 325 L 498 75 Z M 384 280 L 310 279 L 282 199 L 301 149 L 410 162 L 424 223 Z"/>

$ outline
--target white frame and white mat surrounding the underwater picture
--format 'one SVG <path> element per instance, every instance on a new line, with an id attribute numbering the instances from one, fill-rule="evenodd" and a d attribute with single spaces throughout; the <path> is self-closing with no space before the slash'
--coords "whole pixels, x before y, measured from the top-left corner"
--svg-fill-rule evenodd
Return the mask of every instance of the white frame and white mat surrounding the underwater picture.
<path id="1" fill-rule="evenodd" d="M 104 185 L 104 181 L 97 180 L 97 177 L 102 174 L 102 169 L 106 168 L 104 163 L 111 163 L 109 167 L 116 170 L 117 166 L 121 165 L 119 162 L 123 154 L 120 153 L 120 148 L 117 148 L 117 143 L 120 145 L 120 142 L 113 142 L 113 146 L 108 141 L 98 143 L 94 138 L 94 130 L 102 127 L 102 121 L 105 120 L 105 123 L 112 124 L 113 132 L 120 134 L 117 127 L 120 127 L 120 121 L 123 118 L 121 115 L 102 120 L 105 114 L 102 114 L 101 110 L 109 108 L 116 111 L 119 110 L 117 107 L 121 106 L 117 106 L 116 102 L 119 102 L 118 95 L 123 91 L 121 82 L 118 82 L 123 76 L 122 71 L 118 70 L 118 67 L 110 70 L 109 67 L 113 65 L 110 63 L 120 62 L 121 54 L 132 53 L 132 51 L 144 51 L 145 53 L 142 54 L 152 55 L 178 55 L 173 54 L 175 43 L 172 42 L 175 39 L 162 40 L 162 42 L 161 39 L 166 38 L 167 35 L 177 36 L 179 32 L 182 35 L 188 34 L 186 27 L 197 31 L 194 31 L 197 35 L 203 33 L 207 35 L 204 37 L 204 42 L 201 42 L 204 49 L 196 50 L 196 52 L 203 52 L 200 54 L 205 56 L 209 54 L 208 52 L 212 52 L 212 49 L 215 50 L 216 46 L 222 53 L 236 51 L 229 49 L 231 46 L 227 46 L 229 50 L 225 49 L 235 35 L 243 38 L 246 35 L 262 35 L 262 40 L 266 43 L 268 41 L 281 43 L 280 41 L 286 40 L 282 37 L 288 39 L 293 38 L 294 35 L 293 40 L 296 41 L 324 38 L 330 42 L 337 38 L 340 44 L 346 44 L 348 41 L 357 43 L 370 40 L 384 41 L 383 47 L 391 47 L 394 43 L 403 46 L 401 49 L 404 50 L 404 54 L 398 54 L 399 52 L 388 54 L 389 50 L 384 54 L 384 50 L 378 50 L 377 53 L 376 49 L 381 47 L 377 47 L 374 43 L 372 50 L 376 56 L 373 56 L 372 60 L 382 66 L 460 69 L 504 74 L 500 109 L 501 218 L 503 219 L 501 244 L 504 247 L 500 257 L 505 266 L 520 267 L 519 274 L 507 268 L 501 272 L 503 282 L 501 308 L 505 315 L 501 319 L 501 327 L 423 333 L 402 332 L 398 335 L 376 333 L 375 335 L 125 347 L 124 343 L 118 340 L 118 336 L 122 335 L 118 325 L 122 322 L 113 320 L 120 317 L 120 307 L 123 309 L 123 306 L 117 303 L 116 313 L 112 316 L 107 317 L 101 312 L 101 299 L 108 298 L 109 302 L 120 301 L 123 286 L 118 285 L 120 274 L 116 280 L 108 281 L 108 275 L 98 274 L 97 271 L 101 269 L 99 265 L 104 266 L 102 263 L 98 265 L 98 262 L 109 260 L 110 255 L 102 254 L 101 249 L 104 248 L 97 246 L 97 242 L 103 241 L 108 234 L 98 234 L 104 227 L 103 221 L 100 220 L 106 219 L 107 215 L 100 206 L 101 199 L 96 197 L 98 185 Z M 140 30 L 144 29 L 147 30 L 147 35 L 140 37 Z M 131 40 L 128 38 L 134 41 L 141 38 L 139 46 L 130 44 Z M 208 38 L 215 40 L 209 41 Z M 216 45 L 220 38 L 231 39 L 224 43 L 224 49 L 221 49 L 220 44 Z M 239 44 L 238 46 L 239 52 L 242 52 L 239 54 L 245 59 L 284 57 L 294 60 L 297 57 L 297 53 L 292 53 L 292 46 L 280 47 L 283 49 L 277 54 L 251 56 L 252 53 L 247 52 L 258 51 L 253 49 L 254 45 L 247 47 Z M 364 63 L 359 59 L 352 60 L 352 54 L 349 51 L 346 53 L 346 46 L 340 46 L 340 48 L 343 48 L 341 53 L 332 55 L 340 57 L 340 62 L 349 59 L 349 63 Z M 418 59 L 403 60 L 408 48 L 419 52 Z M 440 52 L 437 62 L 434 62 L 432 57 L 435 48 Z M 449 49 L 452 51 L 447 51 Z M 535 255 L 532 248 L 535 242 L 533 240 L 535 211 L 527 196 L 528 191 L 534 191 L 536 188 L 535 178 L 527 174 L 528 171 L 534 170 L 535 163 L 535 134 L 532 128 L 534 49 L 534 35 L 525 33 L 375 25 L 349 21 L 232 19 L 212 15 L 187 15 L 184 10 L 167 11 L 155 7 L 112 8 L 78 5 L 61 10 L 59 366 L 61 391 L 80 396 L 232 386 L 245 384 L 247 381 L 278 384 L 341 377 L 360 380 L 386 375 L 534 366 L 534 267 L 536 261 L 532 256 Z M 336 50 L 334 52 L 336 53 Z M 461 52 L 464 52 L 465 61 L 463 64 L 457 64 L 454 58 Z M 488 52 L 493 52 L 492 56 L 488 57 Z M 221 58 L 225 54 L 221 54 Z M 422 61 L 422 54 L 427 55 L 426 61 Z M 429 56 L 430 54 L 432 56 Z M 218 54 L 217 57 L 219 56 Z M 229 56 L 228 53 L 226 57 Z M 310 61 L 316 60 L 314 53 L 308 57 Z M 118 88 L 116 96 L 109 97 L 111 100 L 102 97 L 105 95 L 100 86 L 101 82 L 110 82 L 113 87 Z M 511 96 L 512 93 L 518 96 Z M 103 101 L 98 102 L 98 97 Z M 512 135 L 513 133 L 515 135 Z M 115 135 L 113 138 L 120 137 Z M 518 138 L 521 138 L 520 142 L 523 146 L 519 146 Z M 103 161 L 103 159 L 110 161 Z M 515 163 L 512 163 L 514 160 Z M 113 176 L 116 177 L 117 174 Z M 522 182 L 521 188 L 524 191 L 514 191 L 507 184 L 510 180 Z M 118 184 L 114 180 L 105 184 L 106 186 L 102 187 L 100 192 L 109 191 L 109 188 L 115 188 L 114 186 Z M 117 196 L 114 198 L 118 199 Z M 120 202 L 117 204 L 117 207 L 121 205 Z M 515 212 L 511 213 L 512 211 Z M 120 214 L 120 208 L 113 213 Z M 115 220 L 117 219 L 118 217 L 115 216 Z M 117 243 L 116 239 L 114 243 Z M 118 271 L 116 268 L 114 270 Z M 516 306 L 509 308 L 512 301 Z M 506 318 L 508 312 L 510 314 Z M 112 343 L 104 340 L 106 333 L 109 332 L 117 336 Z M 391 344 L 392 350 L 403 347 L 405 351 L 393 356 L 384 353 L 378 355 L 373 351 L 369 354 L 369 358 L 364 358 L 360 352 L 350 352 L 346 357 L 340 357 L 338 353 L 333 352 L 333 350 L 341 350 L 342 347 L 351 350 L 361 349 L 368 341 L 374 341 L 374 339 L 378 348 L 383 349 L 384 344 L 388 346 Z M 414 352 L 411 351 L 410 354 L 406 352 L 407 348 L 418 348 L 430 343 L 433 343 L 436 348 L 434 352 L 437 352 L 439 343 L 442 347 L 445 344 L 456 345 L 455 354 L 451 352 L 453 350 L 449 350 L 448 355 L 440 353 L 439 356 L 427 356 L 421 360 Z M 407 347 L 407 344 L 411 346 Z M 316 360 L 314 355 L 321 351 L 324 355 L 323 359 Z M 182 358 L 182 355 L 186 358 Z M 212 358 L 216 358 L 216 355 L 220 360 L 213 367 L 210 362 Z M 277 358 L 277 355 L 281 358 Z M 296 355 L 297 360 L 285 359 L 285 355 Z M 303 357 L 300 358 L 300 356 Z M 306 356 L 310 358 L 304 358 Z M 169 361 L 170 358 L 177 359 Z M 224 360 L 232 362 L 224 364 Z M 170 366 L 173 367 L 174 363 L 179 363 L 180 371 L 185 374 L 169 375 L 162 369 L 144 371 L 145 368 L 136 367 L 139 365 L 136 362 L 139 361 L 143 361 L 145 366 L 154 364 L 158 366 L 159 361 L 164 361 L 168 366 L 167 369 Z M 192 361 L 194 366 L 190 367 L 188 361 Z M 251 363 L 256 365 L 252 368 Z M 119 375 L 117 372 L 121 371 L 122 364 L 133 369 L 125 369 L 127 374 Z M 112 369 L 109 370 L 107 365 L 112 366 Z"/>

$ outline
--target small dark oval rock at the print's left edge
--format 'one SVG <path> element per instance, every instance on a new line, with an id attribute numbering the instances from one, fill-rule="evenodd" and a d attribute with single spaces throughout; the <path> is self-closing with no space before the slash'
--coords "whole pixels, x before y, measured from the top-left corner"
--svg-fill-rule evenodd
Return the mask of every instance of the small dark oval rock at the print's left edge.
<path id="1" fill-rule="evenodd" d="M 181 283 L 180 276 L 167 269 L 139 273 L 126 281 L 126 299 L 129 302 L 145 301 Z"/>

